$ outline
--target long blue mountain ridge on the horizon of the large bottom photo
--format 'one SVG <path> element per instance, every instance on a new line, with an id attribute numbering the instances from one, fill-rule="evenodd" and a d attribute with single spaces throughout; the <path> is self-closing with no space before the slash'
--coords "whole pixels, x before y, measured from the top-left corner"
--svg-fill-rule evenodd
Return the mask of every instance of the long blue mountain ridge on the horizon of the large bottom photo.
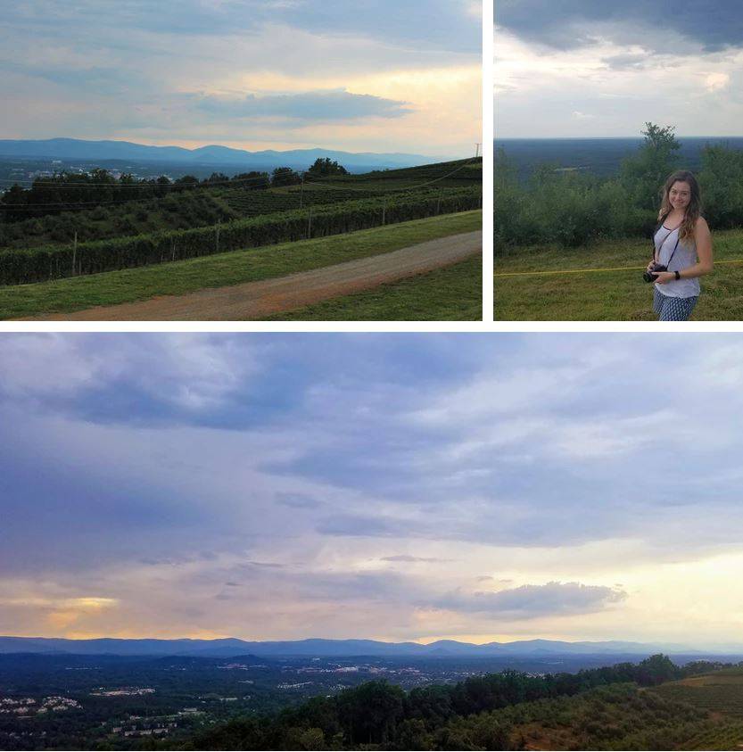
<path id="1" fill-rule="evenodd" d="M 646 644 L 621 640 L 562 642 L 518 640 L 475 645 L 457 640 L 417 642 L 379 640 L 281 640 L 256 642 L 229 637 L 219 640 L 65 640 L 45 637 L 0 637 L 0 653 L 46 653 L 120 656 L 231 657 L 537 657 L 568 655 L 645 656 L 657 652 L 715 655 L 674 645 Z"/>

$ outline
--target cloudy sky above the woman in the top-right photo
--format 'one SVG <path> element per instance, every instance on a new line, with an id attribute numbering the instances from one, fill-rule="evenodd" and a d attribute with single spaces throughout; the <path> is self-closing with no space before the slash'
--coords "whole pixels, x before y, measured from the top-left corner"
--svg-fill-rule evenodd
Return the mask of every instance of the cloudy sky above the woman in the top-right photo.
<path id="1" fill-rule="evenodd" d="M 499 0 L 496 137 L 741 136 L 738 0 Z"/>

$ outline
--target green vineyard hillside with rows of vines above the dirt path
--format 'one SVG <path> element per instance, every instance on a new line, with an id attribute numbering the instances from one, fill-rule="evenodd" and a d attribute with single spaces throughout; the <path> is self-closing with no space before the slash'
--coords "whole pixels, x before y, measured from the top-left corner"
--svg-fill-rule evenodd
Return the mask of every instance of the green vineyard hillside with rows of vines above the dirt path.
<path id="1" fill-rule="evenodd" d="M 302 185 L 266 187 L 265 178 L 245 178 L 181 186 L 147 201 L 20 223 L 11 222 L 14 215 L 6 211 L 0 285 L 160 265 L 477 210 L 481 178 L 482 160 L 462 160 L 358 176 L 305 175 Z M 246 187 L 255 179 L 264 180 L 262 186 Z M 15 234 L 10 239 L 8 228 Z"/>

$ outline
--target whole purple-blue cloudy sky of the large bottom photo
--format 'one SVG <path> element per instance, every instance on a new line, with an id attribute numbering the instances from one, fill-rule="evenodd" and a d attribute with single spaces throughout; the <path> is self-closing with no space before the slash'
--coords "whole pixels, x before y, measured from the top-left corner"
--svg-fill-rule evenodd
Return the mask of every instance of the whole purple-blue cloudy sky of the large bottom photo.
<path id="1" fill-rule="evenodd" d="M 0 634 L 739 645 L 743 337 L 0 335 Z"/>

